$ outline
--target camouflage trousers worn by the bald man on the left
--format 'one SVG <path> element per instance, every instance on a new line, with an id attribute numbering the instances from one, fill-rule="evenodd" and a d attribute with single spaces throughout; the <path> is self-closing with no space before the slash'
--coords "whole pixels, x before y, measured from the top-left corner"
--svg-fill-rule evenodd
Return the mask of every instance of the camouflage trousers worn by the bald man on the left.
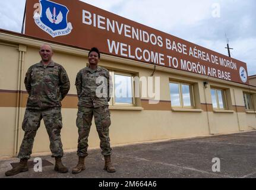
<path id="1" fill-rule="evenodd" d="M 23 142 L 20 146 L 18 158 L 30 159 L 33 148 L 34 137 L 43 119 L 50 139 L 50 151 L 52 157 L 62 157 L 63 149 L 61 143 L 62 116 L 61 107 L 53 107 L 46 110 L 26 109 L 22 129 L 25 132 Z"/>

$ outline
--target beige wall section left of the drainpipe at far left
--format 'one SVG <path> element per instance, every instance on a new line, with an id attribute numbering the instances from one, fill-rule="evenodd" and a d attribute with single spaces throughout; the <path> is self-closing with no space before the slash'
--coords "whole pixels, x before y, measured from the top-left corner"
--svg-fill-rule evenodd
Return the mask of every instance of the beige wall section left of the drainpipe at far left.
<path id="1" fill-rule="evenodd" d="M 17 90 L 19 59 L 17 49 L 18 46 L 0 43 L 0 89 Z M 0 102 L 5 101 L 6 99 L 0 99 Z M 0 157 L 14 155 L 15 116 L 15 107 L 0 107 Z"/>

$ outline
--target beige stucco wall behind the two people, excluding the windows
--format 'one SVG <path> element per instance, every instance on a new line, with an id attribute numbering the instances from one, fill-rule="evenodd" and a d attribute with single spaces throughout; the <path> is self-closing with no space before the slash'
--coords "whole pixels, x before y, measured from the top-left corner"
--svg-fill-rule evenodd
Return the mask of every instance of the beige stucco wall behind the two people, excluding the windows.
<path id="1" fill-rule="evenodd" d="M 43 42 L 26 37 L 6 35 L 0 33 L 0 96 L 9 97 L 3 90 L 10 92 L 9 106 L 0 106 L 0 157 L 14 156 L 18 151 L 24 132 L 21 129 L 24 112 L 26 110 L 26 93 L 21 96 L 20 106 L 16 106 L 18 90 L 18 65 L 20 53 L 24 51 L 23 71 L 21 74 L 21 91 L 26 91 L 23 81 L 27 69 L 32 64 L 39 62 L 39 46 Z M 3 43 L 7 45 L 3 45 Z M 21 48 L 20 44 L 25 45 Z M 86 66 L 87 51 L 75 49 L 73 47 L 52 44 L 55 54 L 53 60 L 63 65 L 68 72 L 71 81 L 69 94 L 75 95 L 75 77 L 81 68 Z M 26 48 L 24 48 L 26 47 Z M 20 50 L 20 51 L 19 51 Z M 21 62 L 20 62 L 21 63 Z M 134 74 L 139 77 L 149 77 L 153 72 L 153 65 L 140 62 L 129 61 L 127 59 L 115 58 L 113 56 L 102 55 L 100 65 L 111 71 L 120 71 Z M 11 68 L 11 69 L 10 69 Z M 256 128 L 256 116 L 254 113 L 243 112 L 244 106 L 243 91 L 248 91 L 248 87 L 242 84 L 230 83 L 200 75 L 194 75 L 183 71 L 160 68 L 157 66 L 155 76 L 160 77 L 160 100 L 162 107 L 150 107 L 141 97 L 137 99 L 138 110 L 119 109 L 112 107 L 110 126 L 110 140 L 112 145 L 141 143 L 145 141 L 166 140 L 175 138 L 199 137 L 210 134 L 228 134 L 238 131 L 251 130 Z M 178 80 L 194 84 L 195 110 L 172 110 L 170 107 L 169 81 Z M 203 82 L 208 81 L 207 88 Z M 227 104 L 229 112 L 213 112 L 211 108 L 210 87 L 226 89 Z M 256 93 L 256 88 L 251 88 L 252 93 Z M 140 94 L 142 91 L 140 89 Z M 254 96 L 255 99 L 255 96 Z M 75 119 L 77 99 L 69 96 L 64 100 L 62 107 L 63 128 L 61 132 L 64 149 L 75 150 L 77 148 L 77 127 Z M 7 101 L 8 102 L 8 101 Z M 69 104 L 67 104 L 69 103 Z M 1 105 L 5 105 L 4 102 Z M 68 106 L 67 106 L 68 105 Z M 204 108 L 208 105 L 208 112 Z M 234 109 L 238 106 L 239 110 Z M 18 121 L 18 124 L 17 124 Z M 18 131 L 15 135 L 15 131 Z M 15 143 L 17 140 L 17 143 Z M 99 137 L 96 127 L 91 126 L 89 136 L 89 147 L 99 148 Z M 49 152 L 49 138 L 46 133 L 43 121 L 34 141 L 33 153 Z"/>

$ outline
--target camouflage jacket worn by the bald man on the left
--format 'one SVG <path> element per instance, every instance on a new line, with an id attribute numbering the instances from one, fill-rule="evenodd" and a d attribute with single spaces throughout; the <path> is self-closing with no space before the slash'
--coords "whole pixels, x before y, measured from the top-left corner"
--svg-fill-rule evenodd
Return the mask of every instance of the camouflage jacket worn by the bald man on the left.
<path id="1" fill-rule="evenodd" d="M 29 93 L 27 108 L 37 110 L 61 107 L 70 88 L 67 72 L 53 61 L 47 66 L 42 61 L 30 66 L 24 83 Z"/>

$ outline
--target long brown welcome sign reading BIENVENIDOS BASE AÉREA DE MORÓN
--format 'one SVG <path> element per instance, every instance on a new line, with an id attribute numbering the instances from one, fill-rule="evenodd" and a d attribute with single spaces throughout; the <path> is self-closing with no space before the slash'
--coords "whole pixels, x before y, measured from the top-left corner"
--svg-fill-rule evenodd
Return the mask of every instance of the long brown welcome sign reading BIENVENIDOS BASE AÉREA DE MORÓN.
<path id="1" fill-rule="evenodd" d="M 78 0 L 27 0 L 25 34 L 248 84 L 244 62 Z"/>

